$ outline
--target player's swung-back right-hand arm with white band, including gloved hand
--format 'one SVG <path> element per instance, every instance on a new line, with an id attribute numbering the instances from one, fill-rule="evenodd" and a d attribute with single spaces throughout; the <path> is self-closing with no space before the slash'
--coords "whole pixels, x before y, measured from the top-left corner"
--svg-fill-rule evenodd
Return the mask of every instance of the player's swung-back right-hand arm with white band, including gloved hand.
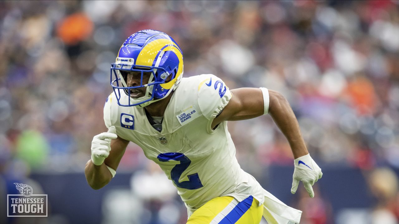
<path id="1" fill-rule="evenodd" d="M 265 94 L 263 91 L 268 92 Z M 291 193 L 296 192 L 299 181 L 302 181 L 309 196 L 313 197 L 312 185 L 322 177 L 322 172 L 306 149 L 298 120 L 286 98 L 277 91 L 261 88 L 238 88 L 231 90 L 231 93 L 233 96 L 229 103 L 213 120 L 211 127 L 214 128 L 226 120 L 246 120 L 268 112 L 287 138 L 294 155 L 295 169 Z M 268 95 L 266 101 L 269 102 L 269 106 L 265 106 L 265 95 Z"/>

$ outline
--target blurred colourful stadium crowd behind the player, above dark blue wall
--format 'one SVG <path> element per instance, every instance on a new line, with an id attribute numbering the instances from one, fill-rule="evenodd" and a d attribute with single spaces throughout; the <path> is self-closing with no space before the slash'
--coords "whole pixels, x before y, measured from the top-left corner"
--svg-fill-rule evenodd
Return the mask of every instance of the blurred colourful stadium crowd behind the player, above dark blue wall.
<path id="1" fill-rule="evenodd" d="M 388 192 L 377 206 L 391 217 L 384 223 L 398 222 L 397 175 L 377 169 L 399 168 L 398 1 L 2 1 L 3 179 L 83 172 L 93 136 L 105 130 L 110 65 L 142 29 L 176 40 L 184 77 L 212 73 L 230 89 L 282 92 L 320 167 L 387 177 L 388 190 L 378 181 L 370 189 Z M 254 176 L 260 166 L 292 165 L 269 116 L 229 122 L 229 131 Z M 151 167 L 140 150 L 130 144 L 118 172 Z M 327 213 L 304 223 L 332 223 Z"/>

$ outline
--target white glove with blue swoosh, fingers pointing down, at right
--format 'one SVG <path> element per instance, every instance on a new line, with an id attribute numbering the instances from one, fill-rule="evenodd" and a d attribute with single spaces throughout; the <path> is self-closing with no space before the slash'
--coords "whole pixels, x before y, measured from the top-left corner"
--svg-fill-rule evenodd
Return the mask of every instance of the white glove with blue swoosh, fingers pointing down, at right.
<path id="1" fill-rule="evenodd" d="M 309 154 L 294 159 L 294 166 L 291 193 L 295 194 L 299 181 L 302 181 L 309 196 L 311 198 L 314 197 L 312 186 L 318 179 L 322 178 L 322 169 L 320 169 Z"/>

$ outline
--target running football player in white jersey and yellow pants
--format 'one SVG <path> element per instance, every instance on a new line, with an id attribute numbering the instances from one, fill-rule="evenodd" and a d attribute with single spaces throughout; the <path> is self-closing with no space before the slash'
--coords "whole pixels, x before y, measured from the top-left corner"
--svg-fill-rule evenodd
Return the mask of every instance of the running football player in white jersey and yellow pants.
<path id="1" fill-rule="evenodd" d="M 94 136 L 85 167 L 93 189 L 115 176 L 130 141 L 176 186 L 188 224 L 299 223 L 301 211 L 264 190 L 240 168 L 227 121 L 270 114 L 294 155 L 291 193 L 302 181 L 310 197 L 322 177 L 287 100 L 267 88 L 229 90 L 215 75 L 183 76 L 183 55 L 166 33 L 142 30 L 119 49 L 111 67 L 113 92 L 104 106 L 108 132 Z"/>

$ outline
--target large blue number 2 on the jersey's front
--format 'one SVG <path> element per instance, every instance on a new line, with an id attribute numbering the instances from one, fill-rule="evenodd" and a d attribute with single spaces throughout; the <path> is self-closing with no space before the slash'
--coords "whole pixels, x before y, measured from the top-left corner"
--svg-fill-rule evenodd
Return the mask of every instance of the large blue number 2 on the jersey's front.
<path id="1" fill-rule="evenodd" d="M 161 162 L 167 162 L 169 160 L 180 161 L 180 164 L 175 165 L 172 171 L 170 171 L 170 177 L 176 186 L 189 190 L 203 187 L 201 181 L 199 180 L 198 173 L 188 175 L 188 181 L 179 182 L 180 176 L 191 163 L 191 160 L 184 154 L 177 152 L 161 153 L 157 158 Z"/>

